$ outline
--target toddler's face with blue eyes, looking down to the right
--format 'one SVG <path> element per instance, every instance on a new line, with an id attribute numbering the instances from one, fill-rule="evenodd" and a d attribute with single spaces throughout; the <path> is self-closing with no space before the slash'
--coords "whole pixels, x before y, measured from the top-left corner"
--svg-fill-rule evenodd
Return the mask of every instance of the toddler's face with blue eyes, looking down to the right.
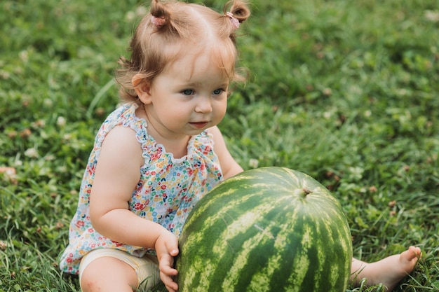
<path id="1" fill-rule="evenodd" d="M 200 134 L 224 118 L 228 88 L 229 78 L 210 55 L 184 55 L 152 81 L 149 123 L 170 138 Z"/>

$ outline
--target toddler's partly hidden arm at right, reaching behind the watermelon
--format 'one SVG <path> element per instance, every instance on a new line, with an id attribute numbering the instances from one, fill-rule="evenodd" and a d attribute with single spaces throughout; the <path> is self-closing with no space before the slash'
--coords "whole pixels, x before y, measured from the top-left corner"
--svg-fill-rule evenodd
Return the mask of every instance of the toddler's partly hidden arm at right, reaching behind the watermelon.
<path id="1" fill-rule="evenodd" d="M 238 165 L 238 162 L 229 153 L 224 137 L 222 137 L 218 127 L 211 127 L 209 132 L 213 135 L 215 153 L 218 155 L 224 179 L 229 179 L 231 176 L 243 172 L 243 168 Z"/>

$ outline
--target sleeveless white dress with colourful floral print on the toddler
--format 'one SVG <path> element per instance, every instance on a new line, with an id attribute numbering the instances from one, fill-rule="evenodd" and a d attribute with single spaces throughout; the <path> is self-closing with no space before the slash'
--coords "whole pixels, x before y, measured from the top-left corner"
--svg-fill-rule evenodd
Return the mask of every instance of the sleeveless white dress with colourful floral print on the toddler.
<path id="1" fill-rule="evenodd" d="M 179 236 L 189 211 L 217 183 L 222 172 L 213 152 L 212 135 L 202 132 L 191 137 L 187 155 L 174 158 L 161 144 L 149 136 L 147 122 L 135 116 L 136 104 L 125 104 L 104 121 L 95 139 L 81 183 L 79 202 L 69 226 L 69 245 L 60 257 L 64 272 L 77 274 L 81 258 L 93 249 L 107 248 L 126 251 L 142 257 L 154 250 L 114 242 L 100 235 L 90 223 L 90 191 L 102 141 L 116 125 L 130 127 L 143 150 L 144 165 L 140 181 L 131 195 L 129 209 L 142 218 L 154 221 Z"/>

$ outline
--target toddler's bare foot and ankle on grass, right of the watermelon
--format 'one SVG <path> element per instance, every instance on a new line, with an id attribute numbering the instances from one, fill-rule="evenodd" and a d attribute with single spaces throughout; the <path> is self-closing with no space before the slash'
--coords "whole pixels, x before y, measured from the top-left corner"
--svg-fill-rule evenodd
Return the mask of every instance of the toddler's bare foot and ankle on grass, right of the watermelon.
<path id="1" fill-rule="evenodd" d="M 421 249 L 410 246 L 407 251 L 374 263 L 365 263 L 353 258 L 351 279 L 358 284 L 358 281 L 366 278 L 368 286 L 383 284 L 387 291 L 392 291 L 399 281 L 412 272 L 420 257 Z"/>

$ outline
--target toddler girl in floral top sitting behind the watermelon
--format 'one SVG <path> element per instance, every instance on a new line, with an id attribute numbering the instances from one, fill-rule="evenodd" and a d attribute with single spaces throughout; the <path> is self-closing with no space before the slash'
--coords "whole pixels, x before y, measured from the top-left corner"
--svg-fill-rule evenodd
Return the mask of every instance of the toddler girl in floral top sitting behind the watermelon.
<path id="1" fill-rule="evenodd" d="M 235 32 L 250 15 L 231 1 L 223 13 L 197 4 L 151 2 L 121 59 L 124 104 L 97 132 L 79 204 L 62 253 L 82 291 L 133 291 L 163 281 L 177 291 L 173 258 L 194 204 L 243 169 L 217 124 L 237 73 Z M 386 264 L 354 260 L 353 272 L 394 286 L 416 263 L 410 248 Z M 369 268 L 370 267 L 370 268 Z M 386 267 L 384 274 L 374 274 Z M 382 270 L 382 269 L 381 269 Z"/>

